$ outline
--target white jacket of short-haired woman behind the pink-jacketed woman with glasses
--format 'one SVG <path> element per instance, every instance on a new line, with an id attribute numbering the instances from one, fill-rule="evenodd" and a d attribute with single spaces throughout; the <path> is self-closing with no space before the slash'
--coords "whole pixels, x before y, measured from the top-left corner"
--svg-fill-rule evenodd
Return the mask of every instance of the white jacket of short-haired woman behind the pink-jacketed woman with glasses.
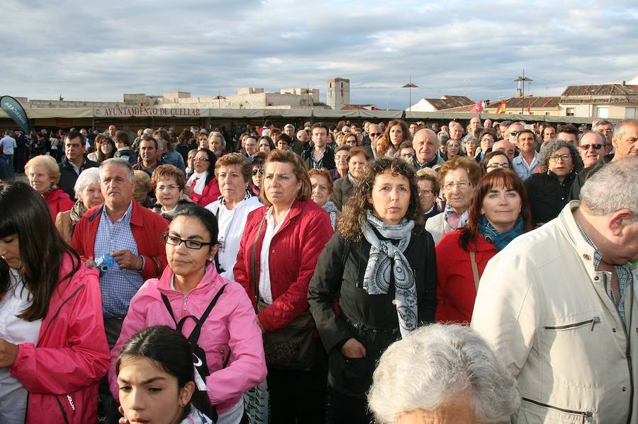
<path id="1" fill-rule="evenodd" d="M 216 214 L 219 225 L 219 233 L 217 239 L 220 241 L 219 249 L 219 265 L 224 272 L 220 273 L 222 277 L 235 281 L 235 262 L 237 262 L 237 253 L 239 253 L 239 245 L 246 227 L 246 219 L 248 214 L 259 207 L 262 207 L 258 197 L 248 197 L 242 200 L 233 210 L 220 206 L 220 200 L 212 202 L 206 206 L 206 209 Z"/>

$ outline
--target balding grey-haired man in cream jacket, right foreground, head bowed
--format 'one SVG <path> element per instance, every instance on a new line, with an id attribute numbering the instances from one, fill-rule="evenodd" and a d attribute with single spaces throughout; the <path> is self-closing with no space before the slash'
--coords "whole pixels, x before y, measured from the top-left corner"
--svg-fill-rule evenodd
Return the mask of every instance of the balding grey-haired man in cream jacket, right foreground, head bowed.
<path id="1" fill-rule="evenodd" d="M 636 423 L 638 158 L 489 262 L 472 328 L 517 379 L 517 423 Z"/>

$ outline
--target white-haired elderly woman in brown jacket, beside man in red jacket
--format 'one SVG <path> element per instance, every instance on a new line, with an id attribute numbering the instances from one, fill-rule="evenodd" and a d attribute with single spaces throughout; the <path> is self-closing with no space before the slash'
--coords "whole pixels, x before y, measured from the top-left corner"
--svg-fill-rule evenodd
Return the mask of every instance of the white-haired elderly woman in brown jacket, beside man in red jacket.
<path id="1" fill-rule="evenodd" d="M 99 168 L 87 168 L 82 171 L 75 181 L 74 190 L 77 198 L 75 205 L 71 210 L 58 212 L 55 218 L 57 231 L 60 231 L 62 239 L 69 244 L 71 244 L 75 224 L 82 218 L 84 212 L 104 202 L 100 188 Z"/>

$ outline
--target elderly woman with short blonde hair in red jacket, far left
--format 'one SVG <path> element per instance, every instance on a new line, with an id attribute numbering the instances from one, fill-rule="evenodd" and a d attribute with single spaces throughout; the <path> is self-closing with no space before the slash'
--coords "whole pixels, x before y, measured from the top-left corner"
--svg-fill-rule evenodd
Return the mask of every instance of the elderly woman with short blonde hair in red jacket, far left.
<path id="1" fill-rule="evenodd" d="M 53 222 L 58 212 L 71 210 L 75 202 L 60 188 L 60 168 L 52 156 L 35 156 L 24 166 L 24 172 L 29 180 L 29 185 L 35 189 L 47 202 Z"/>

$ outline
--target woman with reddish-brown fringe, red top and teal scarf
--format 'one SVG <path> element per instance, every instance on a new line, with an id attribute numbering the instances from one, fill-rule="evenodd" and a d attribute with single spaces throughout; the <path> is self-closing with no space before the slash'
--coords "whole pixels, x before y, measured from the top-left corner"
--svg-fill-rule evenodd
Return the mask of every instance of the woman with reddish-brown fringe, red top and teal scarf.
<path id="1" fill-rule="evenodd" d="M 520 177 L 505 169 L 486 173 L 471 200 L 467 227 L 437 243 L 436 321 L 469 323 L 488 260 L 530 229 L 530 201 Z"/>

